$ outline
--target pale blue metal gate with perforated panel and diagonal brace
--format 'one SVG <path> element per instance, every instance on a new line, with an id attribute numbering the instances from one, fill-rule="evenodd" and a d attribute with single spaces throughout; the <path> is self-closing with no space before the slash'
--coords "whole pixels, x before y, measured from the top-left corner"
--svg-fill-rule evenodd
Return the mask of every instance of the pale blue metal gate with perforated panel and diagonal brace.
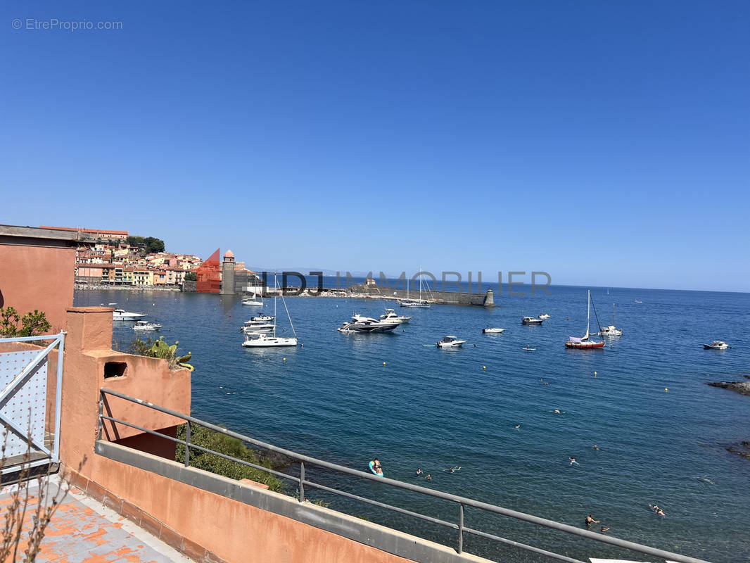
<path id="1" fill-rule="evenodd" d="M 26 349 L 13 343 L 41 344 L 46 348 Z M 45 342 L 46 343 L 46 342 Z M 9 345 L 10 344 L 10 345 Z M 59 461 L 60 395 L 65 333 L 0 339 L 0 444 L 5 444 L 2 474 L 22 467 L 49 465 Z M 49 353 L 57 348 L 54 427 L 46 426 L 47 374 Z"/>

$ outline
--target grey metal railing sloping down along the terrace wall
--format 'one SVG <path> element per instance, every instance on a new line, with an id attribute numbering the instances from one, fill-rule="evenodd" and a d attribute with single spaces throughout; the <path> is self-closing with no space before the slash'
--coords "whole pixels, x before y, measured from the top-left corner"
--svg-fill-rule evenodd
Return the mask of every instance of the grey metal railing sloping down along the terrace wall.
<path id="1" fill-rule="evenodd" d="M 130 401 L 138 405 L 142 405 L 146 408 L 151 408 L 155 411 L 159 411 L 164 414 L 169 414 L 173 417 L 184 420 L 185 422 L 188 423 L 186 425 L 185 439 L 181 440 L 179 438 L 172 438 L 172 436 L 165 435 L 165 434 L 156 432 L 151 429 L 143 428 L 142 426 L 138 426 L 134 423 L 129 423 L 124 420 L 119 420 L 118 418 L 110 417 L 104 414 L 104 404 L 106 402 L 105 397 L 107 395 L 118 397 L 118 399 L 124 399 L 126 401 Z M 539 547 L 530 546 L 526 543 L 520 543 L 514 540 L 509 540 L 505 537 L 500 537 L 495 534 L 489 534 L 484 531 L 476 530 L 474 528 L 469 528 L 463 522 L 463 510 L 464 510 L 464 507 L 472 507 L 472 508 L 484 510 L 489 513 L 499 514 L 501 516 L 508 516 L 510 518 L 514 518 L 522 522 L 529 522 L 535 525 L 543 526 L 545 528 L 550 528 L 556 531 L 562 531 L 567 534 L 573 534 L 576 536 L 585 537 L 586 539 L 595 540 L 600 543 L 607 543 L 611 546 L 616 546 L 616 547 L 623 548 L 623 549 L 630 549 L 631 551 L 644 553 L 646 555 L 652 555 L 658 558 L 664 558 L 669 561 L 676 561 L 677 563 L 708 563 L 707 561 L 704 561 L 703 559 L 688 557 L 686 555 L 680 555 L 679 553 L 668 552 L 668 551 L 665 551 L 664 549 L 657 549 L 655 547 L 644 546 L 640 543 L 634 543 L 628 540 L 621 540 L 617 537 L 611 537 L 611 536 L 607 536 L 604 534 L 596 534 L 595 532 L 584 530 L 582 528 L 576 528 L 575 526 L 572 526 L 572 525 L 562 524 L 561 522 L 555 522 L 554 520 L 540 518 L 538 516 L 532 516 L 530 514 L 518 512 L 517 510 L 510 510 L 508 508 L 499 507 L 494 504 L 488 504 L 486 502 L 476 501 L 472 498 L 466 498 L 466 497 L 462 497 L 459 495 L 451 495 L 447 492 L 427 489 L 425 487 L 413 485 L 411 483 L 403 483 L 395 479 L 389 479 L 388 477 L 380 477 L 371 473 L 366 473 L 365 471 L 359 471 L 356 469 L 348 468 L 344 465 L 338 465 L 332 462 L 326 462 L 323 459 L 316 459 L 311 456 L 306 456 L 305 454 L 302 454 L 302 453 L 293 452 L 292 450 L 286 450 L 281 447 L 276 447 L 272 444 L 267 444 L 266 442 L 256 440 L 254 438 L 250 438 L 249 436 L 239 434 L 238 432 L 233 432 L 231 430 L 222 428 L 221 426 L 217 426 L 215 424 L 205 422 L 204 420 L 199 420 L 196 417 L 191 417 L 190 415 L 182 414 L 177 411 L 172 411 L 172 409 L 160 407 L 158 405 L 154 405 L 142 399 L 136 399 L 135 397 L 125 395 L 124 393 L 118 393 L 117 391 L 102 388 L 100 401 L 99 401 L 99 439 L 100 440 L 102 436 L 104 420 L 108 420 L 111 423 L 115 423 L 115 424 L 122 424 L 124 426 L 128 426 L 130 428 L 139 430 L 141 432 L 147 432 L 148 434 L 151 434 L 151 435 L 160 436 L 161 438 L 175 442 L 175 444 L 183 445 L 185 448 L 185 456 L 184 456 L 185 467 L 188 467 L 190 465 L 190 449 L 199 450 L 205 453 L 211 453 L 212 455 L 219 456 L 223 459 L 228 459 L 230 461 L 237 462 L 242 465 L 247 465 L 248 467 L 251 467 L 251 468 L 259 469 L 260 471 L 266 471 L 269 474 L 273 474 L 277 477 L 281 477 L 282 479 L 291 480 L 294 483 L 297 483 L 297 485 L 299 486 L 299 501 L 300 502 L 305 501 L 305 486 L 308 486 L 313 489 L 330 492 L 335 495 L 340 495 L 345 498 L 350 498 L 355 501 L 360 501 L 365 504 L 370 504 L 371 506 L 384 508 L 386 510 L 391 510 L 395 513 L 404 514 L 406 516 L 413 516 L 414 518 L 421 519 L 426 522 L 432 522 L 434 524 L 441 525 L 445 528 L 456 530 L 458 531 L 458 540 L 457 540 L 457 546 L 455 549 L 458 553 L 463 552 L 463 534 L 472 534 L 477 537 L 484 537 L 485 539 L 493 540 L 498 543 L 503 543 L 508 546 L 525 549 L 526 551 L 533 552 L 538 555 L 545 555 L 547 557 L 554 558 L 559 561 L 568 561 L 568 563 L 584 563 L 583 561 L 568 557 L 567 555 L 561 555 L 559 553 L 550 552 L 550 551 L 547 551 L 546 549 L 541 549 Z M 299 477 L 295 477 L 290 474 L 282 473 L 281 471 L 275 471 L 274 469 L 263 467 L 262 465 L 257 465 L 251 462 L 247 462 L 244 459 L 237 459 L 233 456 L 227 456 L 224 453 L 220 453 L 220 452 L 211 450 L 206 447 L 202 447 L 196 444 L 190 444 L 190 424 L 189 423 L 202 426 L 206 429 L 213 430 L 214 432 L 219 432 L 220 434 L 229 436 L 231 438 L 237 438 L 238 440 L 241 440 L 247 444 L 252 444 L 254 446 L 261 447 L 265 450 L 269 450 L 269 451 L 276 452 L 276 453 L 281 453 L 282 455 L 287 456 L 288 458 L 293 459 L 295 462 L 299 463 Z M 419 493 L 421 495 L 425 495 L 428 497 L 440 498 L 444 501 L 450 501 L 457 505 L 458 522 L 448 522 L 443 519 L 434 518 L 433 516 L 428 516 L 426 514 L 414 512 L 413 510 L 407 510 L 405 508 L 397 507 L 392 504 L 387 504 L 385 502 L 376 501 L 372 498 L 366 498 L 363 496 L 354 495 L 353 493 L 350 493 L 350 492 L 342 491 L 340 489 L 334 489 L 332 487 L 323 485 L 322 483 L 314 483 L 313 481 L 308 480 L 305 477 L 305 464 L 314 465 L 320 468 L 326 468 L 332 471 L 338 471 L 339 473 L 344 473 L 347 475 L 353 475 L 354 477 L 359 477 L 361 479 L 374 481 L 374 482 L 381 483 L 387 486 L 392 486 L 392 487 L 395 487 L 396 489 L 416 492 L 416 493 Z"/>

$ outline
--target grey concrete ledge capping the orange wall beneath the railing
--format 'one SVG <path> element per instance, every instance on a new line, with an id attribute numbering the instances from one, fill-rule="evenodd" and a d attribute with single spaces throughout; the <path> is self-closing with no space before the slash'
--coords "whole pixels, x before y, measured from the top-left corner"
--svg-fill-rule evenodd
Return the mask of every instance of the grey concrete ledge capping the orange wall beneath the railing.
<path id="1" fill-rule="evenodd" d="M 459 554 L 440 543 L 111 442 L 97 441 L 96 453 L 420 563 L 490 563 L 475 555 Z"/>

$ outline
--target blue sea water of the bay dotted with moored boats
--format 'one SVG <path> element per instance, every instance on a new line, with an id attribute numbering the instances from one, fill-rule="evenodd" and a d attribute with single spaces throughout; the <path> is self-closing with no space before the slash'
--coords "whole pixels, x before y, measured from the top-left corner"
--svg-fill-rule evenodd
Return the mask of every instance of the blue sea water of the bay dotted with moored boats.
<path id="1" fill-rule="evenodd" d="M 623 329 L 601 351 L 564 347 L 585 331 L 586 289 L 550 294 L 496 295 L 496 309 L 397 309 L 413 321 L 380 335 L 335 328 L 355 312 L 380 315 L 381 301 L 289 298 L 304 346 L 253 351 L 241 347 L 239 326 L 258 309 L 234 297 L 82 291 L 76 302 L 117 302 L 162 322 L 165 339 L 193 352 L 197 417 L 353 468 L 367 470 L 378 456 L 388 477 L 560 522 L 580 525 L 592 513 L 616 537 L 712 561 L 750 560 L 750 462 L 726 450 L 750 438 L 750 397 L 706 385 L 750 374 L 750 294 L 610 288 L 607 296 L 595 288 L 601 323 L 611 324 L 616 303 Z M 267 300 L 266 311 L 272 307 Z M 551 318 L 541 327 L 520 325 L 542 312 Z M 283 311 L 279 317 L 287 326 Z M 125 349 L 133 330 L 119 325 L 114 339 Z M 484 336 L 487 325 L 506 332 Z M 465 348 L 425 347 L 446 334 L 466 339 Z M 704 351 L 714 339 L 733 348 Z M 526 344 L 536 351 L 522 351 Z M 461 470 L 442 471 L 453 465 Z M 416 479 L 417 467 L 433 480 Z M 313 478 L 457 519 L 455 507 L 377 484 Z M 453 531 L 316 498 L 455 545 Z M 649 503 L 667 517 L 654 516 Z M 499 516 L 467 511 L 466 525 L 577 557 L 615 553 Z M 535 560 L 471 539 L 466 549 Z"/>

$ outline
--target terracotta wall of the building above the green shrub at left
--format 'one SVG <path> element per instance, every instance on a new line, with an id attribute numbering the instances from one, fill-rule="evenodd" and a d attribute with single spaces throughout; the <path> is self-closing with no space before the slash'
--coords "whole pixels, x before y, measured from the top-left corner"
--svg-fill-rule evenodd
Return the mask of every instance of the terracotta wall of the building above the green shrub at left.
<path id="1" fill-rule="evenodd" d="M 75 263 L 75 248 L 0 245 L 0 306 L 43 311 L 52 333 L 60 332 L 73 305 Z"/>

